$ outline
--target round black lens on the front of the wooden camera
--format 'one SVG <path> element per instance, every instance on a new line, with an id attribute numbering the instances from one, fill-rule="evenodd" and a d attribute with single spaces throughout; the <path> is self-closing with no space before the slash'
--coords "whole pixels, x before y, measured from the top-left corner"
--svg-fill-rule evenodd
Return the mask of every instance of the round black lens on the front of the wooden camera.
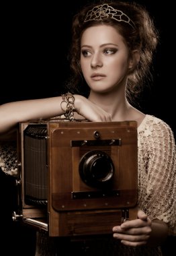
<path id="1" fill-rule="evenodd" d="M 112 180 L 114 164 L 108 154 L 93 150 L 81 158 L 79 174 L 83 182 L 91 187 L 105 186 Z"/>

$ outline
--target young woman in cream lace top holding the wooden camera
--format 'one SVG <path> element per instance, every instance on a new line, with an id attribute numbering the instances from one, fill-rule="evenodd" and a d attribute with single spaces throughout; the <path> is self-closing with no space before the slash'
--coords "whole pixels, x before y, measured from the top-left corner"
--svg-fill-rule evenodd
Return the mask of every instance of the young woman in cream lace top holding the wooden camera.
<path id="1" fill-rule="evenodd" d="M 162 255 L 162 243 L 176 231 L 173 131 L 161 119 L 140 112 L 132 102 L 144 78 L 150 75 L 157 42 L 157 30 L 144 7 L 120 1 L 93 3 L 73 20 L 69 93 L 0 107 L 2 137 L 10 135 L 21 121 L 59 115 L 71 121 L 137 121 L 136 220 L 114 226 L 112 240 L 103 241 L 103 251 L 96 251 L 96 242 L 89 255 Z M 87 92 L 87 96 L 81 96 L 75 88 Z"/>

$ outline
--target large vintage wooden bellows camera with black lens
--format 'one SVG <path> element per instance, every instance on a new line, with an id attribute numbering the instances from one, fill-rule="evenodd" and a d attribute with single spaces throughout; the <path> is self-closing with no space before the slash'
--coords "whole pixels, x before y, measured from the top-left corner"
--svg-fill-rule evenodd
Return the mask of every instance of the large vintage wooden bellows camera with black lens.
<path id="1" fill-rule="evenodd" d="M 19 123 L 18 210 L 49 236 L 110 234 L 136 218 L 135 121 Z"/>

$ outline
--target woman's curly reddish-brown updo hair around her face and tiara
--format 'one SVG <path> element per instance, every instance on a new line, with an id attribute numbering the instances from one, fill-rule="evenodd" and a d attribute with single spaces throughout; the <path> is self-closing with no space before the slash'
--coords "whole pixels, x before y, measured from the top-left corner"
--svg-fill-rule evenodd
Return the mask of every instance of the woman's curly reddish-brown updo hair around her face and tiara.
<path id="1" fill-rule="evenodd" d="M 108 15 L 101 18 L 101 20 L 89 20 L 88 22 L 84 22 L 87 12 L 99 4 L 108 4 L 114 7 L 114 9 L 123 11 L 123 13 L 128 15 L 128 18 L 132 20 L 134 28 L 129 26 L 128 22 L 118 22 L 108 17 Z M 159 33 L 146 8 L 138 3 L 107 0 L 100 1 L 99 4 L 91 3 L 83 7 L 73 18 L 72 44 L 69 53 L 72 77 L 68 84 L 69 90 L 72 92 L 75 92 L 75 90 L 76 92 L 80 90 L 89 92 L 80 67 L 81 36 L 83 32 L 91 26 L 106 24 L 116 28 L 123 36 L 128 46 L 129 53 L 134 50 L 140 52 L 140 61 L 136 67 L 130 71 L 126 87 L 126 96 L 128 100 L 132 102 L 132 99 L 138 96 L 142 91 L 146 79 L 152 79 L 150 66 L 159 41 Z"/>

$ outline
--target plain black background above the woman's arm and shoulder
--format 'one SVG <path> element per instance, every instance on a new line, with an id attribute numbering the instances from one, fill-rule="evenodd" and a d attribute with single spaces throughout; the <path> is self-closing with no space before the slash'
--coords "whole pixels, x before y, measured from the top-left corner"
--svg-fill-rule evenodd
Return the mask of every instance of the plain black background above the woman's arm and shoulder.
<path id="1" fill-rule="evenodd" d="M 92 0 L 93 1 L 93 0 Z M 37 2 L 37 3 L 36 3 Z M 3 7 L 1 27 L 2 79 L 0 104 L 11 100 L 45 98 L 62 92 L 69 75 L 67 54 L 73 15 L 90 1 L 48 3 L 11 2 Z M 155 21 L 160 43 L 153 65 L 153 82 L 140 99 L 140 110 L 166 121 L 174 133 L 175 94 L 173 84 L 174 13 L 172 5 L 138 0 Z"/>

